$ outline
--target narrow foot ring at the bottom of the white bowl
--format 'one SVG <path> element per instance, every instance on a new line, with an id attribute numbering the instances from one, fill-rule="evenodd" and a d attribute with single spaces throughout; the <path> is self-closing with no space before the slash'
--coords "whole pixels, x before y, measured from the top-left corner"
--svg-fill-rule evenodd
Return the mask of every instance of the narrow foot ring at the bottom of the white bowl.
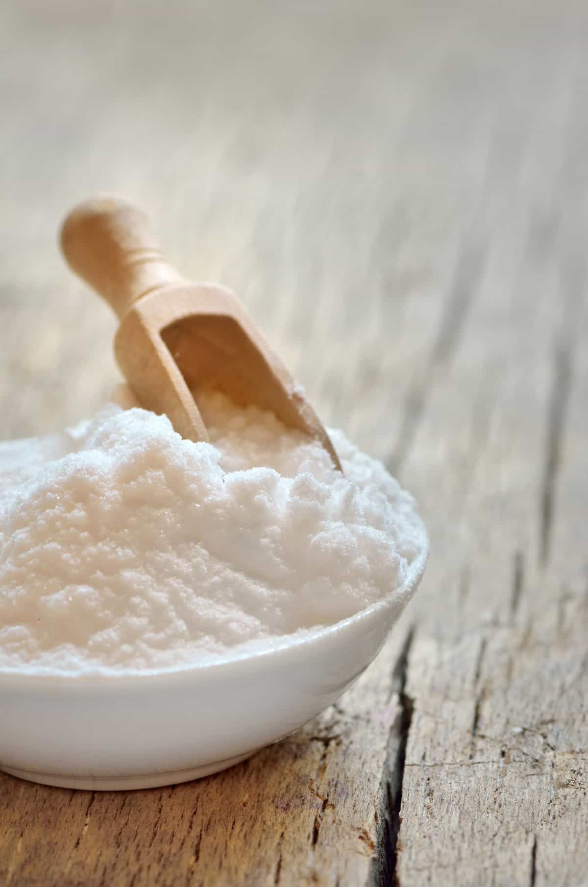
<path id="1" fill-rule="evenodd" d="M 60 789 L 86 789 L 89 791 L 128 791 L 132 789 L 156 789 L 162 785 L 176 785 L 177 782 L 189 782 L 226 770 L 255 754 L 256 749 L 246 751 L 237 757 L 225 757 L 223 761 L 211 761 L 187 770 L 173 770 L 169 773 L 145 773 L 142 776 L 68 776 L 66 773 L 35 773 L 32 770 L 17 770 L 13 767 L 0 765 L 0 770 L 11 776 L 18 776 L 29 782 L 40 782 L 42 785 L 53 785 Z"/>

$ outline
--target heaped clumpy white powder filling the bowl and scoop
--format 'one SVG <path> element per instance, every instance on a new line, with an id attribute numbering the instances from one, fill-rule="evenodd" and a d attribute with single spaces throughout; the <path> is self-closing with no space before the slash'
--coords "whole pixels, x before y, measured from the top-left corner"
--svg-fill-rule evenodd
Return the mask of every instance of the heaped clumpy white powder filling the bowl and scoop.
<path id="1" fill-rule="evenodd" d="M 0 444 L 0 669 L 141 671 L 333 624 L 401 585 L 414 501 L 339 431 L 345 476 L 270 413 L 199 398 L 211 443 L 108 404 Z"/>

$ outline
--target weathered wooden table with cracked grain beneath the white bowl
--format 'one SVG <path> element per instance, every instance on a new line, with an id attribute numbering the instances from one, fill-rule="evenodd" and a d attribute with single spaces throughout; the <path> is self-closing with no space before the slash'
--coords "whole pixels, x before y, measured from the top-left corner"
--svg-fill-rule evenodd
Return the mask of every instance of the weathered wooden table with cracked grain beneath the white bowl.
<path id="1" fill-rule="evenodd" d="M 56 231 L 121 192 L 432 542 L 356 687 L 245 764 L 126 794 L 0 775 L 0 883 L 587 883 L 586 4 L 13 0 L 0 35 L 3 436 L 116 378 Z"/>

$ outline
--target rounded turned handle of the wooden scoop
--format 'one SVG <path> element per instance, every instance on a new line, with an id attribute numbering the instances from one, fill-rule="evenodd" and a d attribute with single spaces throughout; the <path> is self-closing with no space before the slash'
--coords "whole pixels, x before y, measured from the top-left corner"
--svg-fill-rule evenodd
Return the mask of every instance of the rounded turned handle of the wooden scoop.
<path id="1" fill-rule="evenodd" d="M 125 200 L 84 200 L 66 217 L 60 239 L 67 263 L 119 318 L 141 296 L 184 280 L 161 253 L 145 213 Z"/>

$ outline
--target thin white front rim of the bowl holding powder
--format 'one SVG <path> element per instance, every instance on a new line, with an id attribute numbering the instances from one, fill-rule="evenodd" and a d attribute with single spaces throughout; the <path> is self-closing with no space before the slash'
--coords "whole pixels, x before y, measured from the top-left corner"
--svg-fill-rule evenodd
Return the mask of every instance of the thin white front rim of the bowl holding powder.
<path id="1" fill-rule="evenodd" d="M 152 667 L 144 669 L 117 668 L 109 669 L 107 667 L 96 670 L 81 671 L 58 671 L 53 669 L 39 669 L 38 671 L 23 671 L 21 668 L 8 669 L 0 666 L 0 692 L 4 689 L 32 689 L 37 686 L 39 688 L 49 687 L 104 687 L 108 684 L 110 687 L 126 687 L 128 684 L 144 685 L 145 682 L 150 683 L 166 683 L 171 680 L 188 677 L 195 673 L 208 673 L 217 670 L 230 670 L 231 667 L 239 665 L 240 667 L 255 667 L 255 664 L 262 662 L 270 655 L 287 656 L 299 649 L 309 647 L 311 644 L 320 640 L 326 640 L 335 637 L 337 634 L 352 628 L 355 625 L 365 623 L 373 616 L 391 607 L 392 604 L 406 598 L 408 603 L 412 598 L 412 594 L 416 591 L 421 578 L 427 566 L 429 555 L 429 542 L 427 530 L 422 519 L 419 517 L 422 533 L 422 547 L 410 563 L 404 582 L 396 585 L 391 591 L 384 594 L 380 600 L 374 601 L 368 607 L 354 613 L 353 616 L 346 616 L 330 625 L 322 625 L 317 628 L 310 628 L 304 633 L 290 633 L 282 635 L 278 640 L 271 641 L 267 646 L 259 649 L 245 647 L 236 654 L 227 654 L 219 656 L 215 659 L 204 660 L 202 662 L 182 662 L 177 665 L 167 667 Z M 300 631 L 300 630 L 299 630 Z M 268 639 L 260 639 L 259 643 Z M 255 643 L 255 641 L 253 642 Z M 244 645 L 242 645 L 244 646 Z M 239 649 L 239 648 L 237 648 Z"/>

